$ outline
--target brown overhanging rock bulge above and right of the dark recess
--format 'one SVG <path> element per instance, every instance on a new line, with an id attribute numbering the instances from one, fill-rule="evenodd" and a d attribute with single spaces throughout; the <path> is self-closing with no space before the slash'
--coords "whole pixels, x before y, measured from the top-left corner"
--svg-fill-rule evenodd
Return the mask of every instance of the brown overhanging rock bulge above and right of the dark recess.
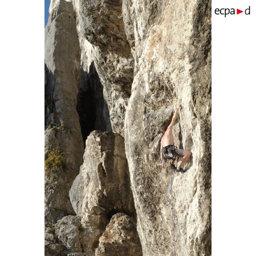
<path id="1" fill-rule="evenodd" d="M 112 129 L 123 135 L 134 60 L 124 31 L 122 1 L 80 0 L 77 23 L 81 49 L 89 53 L 89 59 L 95 61 L 104 86 Z M 86 41 L 93 45 L 93 55 Z M 86 56 L 83 55 L 83 61 L 88 63 Z"/>

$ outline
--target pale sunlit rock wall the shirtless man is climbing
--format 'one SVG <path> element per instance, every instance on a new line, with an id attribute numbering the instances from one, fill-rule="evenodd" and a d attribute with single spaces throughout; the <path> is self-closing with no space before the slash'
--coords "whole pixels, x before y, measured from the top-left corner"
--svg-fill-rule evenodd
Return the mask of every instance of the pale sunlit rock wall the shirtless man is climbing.
<path id="1" fill-rule="evenodd" d="M 124 3 L 125 24 L 134 24 L 125 28 L 135 38 L 136 71 L 125 146 L 143 254 L 211 255 L 210 2 Z M 175 145 L 192 158 L 187 173 L 174 175 L 170 195 L 159 129 L 177 106 Z"/>

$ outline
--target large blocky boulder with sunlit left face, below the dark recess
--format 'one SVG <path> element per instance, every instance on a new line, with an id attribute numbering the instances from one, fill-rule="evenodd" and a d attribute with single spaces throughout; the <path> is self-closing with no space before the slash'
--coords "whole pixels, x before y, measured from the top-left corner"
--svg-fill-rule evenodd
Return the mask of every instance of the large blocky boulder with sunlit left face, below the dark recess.
<path id="1" fill-rule="evenodd" d="M 135 208 L 121 135 L 93 131 L 86 140 L 83 160 L 69 195 L 82 218 L 83 251 L 94 255 L 111 216 L 125 212 L 135 219 Z"/>

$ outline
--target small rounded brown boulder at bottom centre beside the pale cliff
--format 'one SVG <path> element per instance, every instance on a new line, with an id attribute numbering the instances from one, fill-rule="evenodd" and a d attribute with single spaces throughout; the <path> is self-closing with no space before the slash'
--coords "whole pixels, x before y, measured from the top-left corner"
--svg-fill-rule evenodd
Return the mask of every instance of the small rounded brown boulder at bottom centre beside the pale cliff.
<path id="1" fill-rule="evenodd" d="M 100 237 L 95 256 L 141 256 L 142 250 L 136 223 L 124 213 L 113 215 Z"/>

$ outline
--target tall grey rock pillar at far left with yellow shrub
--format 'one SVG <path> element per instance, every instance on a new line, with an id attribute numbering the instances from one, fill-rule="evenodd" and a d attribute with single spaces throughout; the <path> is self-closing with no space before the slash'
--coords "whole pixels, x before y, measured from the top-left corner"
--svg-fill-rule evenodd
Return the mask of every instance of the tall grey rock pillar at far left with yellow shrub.
<path id="1" fill-rule="evenodd" d="M 76 110 L 80 48 L 72 3 L 59 1 L 45 28 L 45 223 L 73 215 L 69 189 L 79 172 L 83 139 Z"/>

